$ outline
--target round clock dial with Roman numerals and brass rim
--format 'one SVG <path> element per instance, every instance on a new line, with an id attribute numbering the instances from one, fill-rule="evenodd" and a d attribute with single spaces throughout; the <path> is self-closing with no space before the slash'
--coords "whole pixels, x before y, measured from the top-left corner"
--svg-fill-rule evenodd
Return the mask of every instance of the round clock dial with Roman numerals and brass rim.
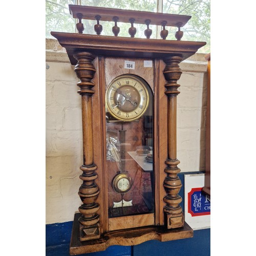
<path id="1" fill-rule="evenodd" d="M 149 102 L 145 81 L 134 75 L 114 79 L 106 90 L 106 109 L 121 121 L 134 121 L 146 111 Z"/>

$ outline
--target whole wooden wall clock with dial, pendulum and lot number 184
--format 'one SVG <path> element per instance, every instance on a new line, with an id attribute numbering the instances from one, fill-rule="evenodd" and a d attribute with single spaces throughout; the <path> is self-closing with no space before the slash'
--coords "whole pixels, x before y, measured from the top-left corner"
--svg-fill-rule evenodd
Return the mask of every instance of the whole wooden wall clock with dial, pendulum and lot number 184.
<path id="1" fill-rule="evenodd" d="M 180 203 L 176 150 L 179 63 L 205 42 L 183 41 L 191 16 L 70 5 L 78 33 L 51 32 L 65 47 L 79 78 L 83 163 L 82 201 L 74 216 L 70 253 L 193 237 Z M 96 35 L 83 34 L 82 19 L 96 20 Z M 100 35 L 100 21 L 113 36 Z M 118 22 L 130 23 L 118 36 Z M 145 38 L 136 38 L 145 24 Z M 150 38 L 162 26 L 162 39 Z M 166 40 L 165 26 L 177 27 Z"/>

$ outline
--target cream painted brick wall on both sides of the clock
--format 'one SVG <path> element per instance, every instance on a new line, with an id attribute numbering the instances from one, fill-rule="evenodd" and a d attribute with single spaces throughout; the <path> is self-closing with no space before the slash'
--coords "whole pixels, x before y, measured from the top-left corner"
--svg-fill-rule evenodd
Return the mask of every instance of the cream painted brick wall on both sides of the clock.
<path id="1" fill-rule="evenodd" d="M 46 51 L 46 224 L 73 221 L 81 204 L 81 99 L 65 50 L 47 40 Z M 206 69 L 204 54 L 180 64 L 177 158 L 181 172 L 205 169 Z"/>

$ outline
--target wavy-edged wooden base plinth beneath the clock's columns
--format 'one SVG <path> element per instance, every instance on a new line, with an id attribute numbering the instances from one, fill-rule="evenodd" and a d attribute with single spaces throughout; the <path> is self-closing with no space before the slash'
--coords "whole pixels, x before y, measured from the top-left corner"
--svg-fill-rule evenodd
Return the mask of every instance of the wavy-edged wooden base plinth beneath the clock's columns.
<path id="1" fill-rule="evenodd" d="M 160 242 L 193 238 L 193 229 L 184 222 L 184 227 L 166 229 L 164 226 L 146 226 L 130 229 L 115 230 L 101 234 L 99 239 L 80 241 L 79 238 L 79 217 L 80 213 L 74 216 L 72 236 L 70 242 L 70 255 L 78 255 L 89 252 L 104 251 L 112 245 L 131 246 L 141 244 L 149 240 Z"/>

